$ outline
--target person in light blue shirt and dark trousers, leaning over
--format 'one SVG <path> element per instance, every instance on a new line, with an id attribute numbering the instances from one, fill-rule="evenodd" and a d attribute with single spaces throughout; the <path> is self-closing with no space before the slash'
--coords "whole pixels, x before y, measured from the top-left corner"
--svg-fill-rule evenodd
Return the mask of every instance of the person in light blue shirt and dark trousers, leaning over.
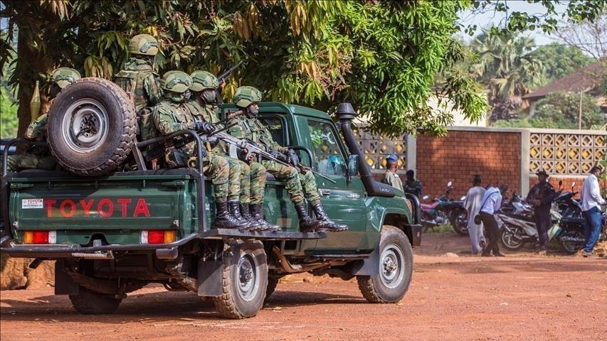
<path id="1" fill-rule="evenodd" d="M 508 185 L 502 183 L 499 188 L 490 187 L 485 191 L 485 195 L 482 197 L 482 204 L 480 205 L 480 220 L 482 221 L 483 226 L 485 226 L 485 230 L 487 231 L 487 237 L 489 238 L 489 243 L 482 250 L 481 256 L 490 257 L 492 256 L 491 252 L 493 252 L 493 256 L 495 257 L 503 257 L 504 255 L 500 253 L 500 246 L 497 243 L 497 239 L 500 236 L 500 229 L 497 227 L 497 220 L 493 216 L 495 212 L 500 210 L 502 206 L 502 198 L 506 195 L 508 191 Z"/>

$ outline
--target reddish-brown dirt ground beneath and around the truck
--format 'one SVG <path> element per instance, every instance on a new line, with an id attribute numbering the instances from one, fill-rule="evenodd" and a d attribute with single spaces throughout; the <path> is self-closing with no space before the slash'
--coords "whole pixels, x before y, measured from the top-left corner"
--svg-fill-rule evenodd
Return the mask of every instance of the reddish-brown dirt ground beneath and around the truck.
<path id="1" fill-rule="evenodd" d="M 255 318 L 222 320 L 195 293 L 149 286 L 114 315 L 80 315 L 53 288 L 1 291 L 8 340 L 607 340 L 607 257 L 550 249 L 473 256 L 468 238 L 433 233 L 414 249 L 397 304 L 366 303 L 355 279 L 284 278 Z"/>

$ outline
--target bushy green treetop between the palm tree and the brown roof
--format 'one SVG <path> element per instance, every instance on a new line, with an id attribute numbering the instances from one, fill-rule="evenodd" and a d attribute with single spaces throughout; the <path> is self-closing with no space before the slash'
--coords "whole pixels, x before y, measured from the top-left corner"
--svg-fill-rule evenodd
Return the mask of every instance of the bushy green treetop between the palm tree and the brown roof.
<path id="1" fill-rule="evenodd" d="M 540 86 L 565 77 L 593 62 L 593 59 L 584 55 L 579 48 L 559 43 L 540 46 L 532 54 L 544 65 Z"/>

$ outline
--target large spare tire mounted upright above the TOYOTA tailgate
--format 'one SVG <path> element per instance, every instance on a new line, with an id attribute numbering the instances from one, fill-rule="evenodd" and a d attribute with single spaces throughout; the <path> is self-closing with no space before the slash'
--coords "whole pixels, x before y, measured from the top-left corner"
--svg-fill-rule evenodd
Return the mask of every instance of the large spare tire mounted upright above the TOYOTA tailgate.
<path id="1" fill-rule="evenodd" d="M 60 166 L 85 176 L 114 171 L 129 155 L 136 114 L 128 94 L 102 78 L 61 90 L 48 114 L 47 139 Z"/>

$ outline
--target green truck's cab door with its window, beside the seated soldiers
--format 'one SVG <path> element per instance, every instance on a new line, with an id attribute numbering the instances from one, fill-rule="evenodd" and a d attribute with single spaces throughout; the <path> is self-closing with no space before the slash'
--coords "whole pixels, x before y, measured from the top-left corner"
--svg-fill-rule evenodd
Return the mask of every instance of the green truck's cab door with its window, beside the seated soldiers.
<path id="1" fill-rule="evenodd" d="M 345 232 L 328 233 L 326 239 L 319 239 L 315 254 L 319 251 L 335 254 L 338 250 L 339 253 L 352 253 L 373 249 L 375 240 L 369 240 L 366 234 L 364 186 L 358 177 L 352 177 L 350 183 L 346 182 L 347 157 L 333 122 L 312 117 L 305 119 L 310 129 L 308 143 L 315 159 L 315 170 L 335 181 L 332 183 L 315 175 L 324 210 L 332 220 L 349 227 Z M 302 161 L 307 162 L 307 157 L 302 155 Z"/>

